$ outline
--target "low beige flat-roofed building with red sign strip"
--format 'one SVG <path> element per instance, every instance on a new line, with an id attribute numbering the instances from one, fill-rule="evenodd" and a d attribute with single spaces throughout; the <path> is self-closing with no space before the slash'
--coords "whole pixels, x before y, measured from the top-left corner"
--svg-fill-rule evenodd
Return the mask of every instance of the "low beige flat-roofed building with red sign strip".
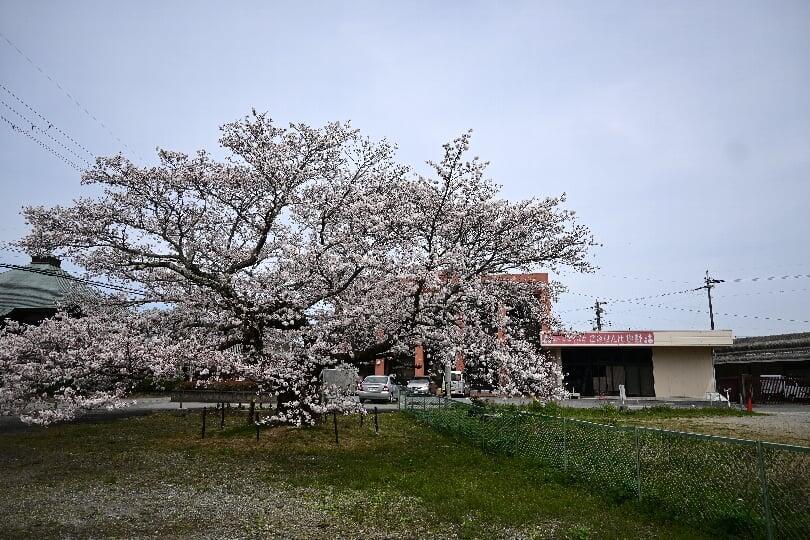
<path id="1" fill-rule="evenodd" d="M 567 390 L 581 396 L 697 398 L 715 391 L 714 347 L 731 330 L 628 330 L 544 333 L 543 348 L 562 363 Z"/>

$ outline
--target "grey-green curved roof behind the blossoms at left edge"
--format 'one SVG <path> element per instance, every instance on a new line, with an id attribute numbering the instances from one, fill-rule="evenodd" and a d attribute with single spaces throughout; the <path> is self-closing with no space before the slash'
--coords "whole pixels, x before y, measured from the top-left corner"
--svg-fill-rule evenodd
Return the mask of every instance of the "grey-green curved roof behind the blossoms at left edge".
<path id="1" fill-rule="evenodd" d="M 31 264 L 0 273 L 0 317 L 15 309 L 55 309 L 81 287 L 54 257 L 34 257 Z"/>

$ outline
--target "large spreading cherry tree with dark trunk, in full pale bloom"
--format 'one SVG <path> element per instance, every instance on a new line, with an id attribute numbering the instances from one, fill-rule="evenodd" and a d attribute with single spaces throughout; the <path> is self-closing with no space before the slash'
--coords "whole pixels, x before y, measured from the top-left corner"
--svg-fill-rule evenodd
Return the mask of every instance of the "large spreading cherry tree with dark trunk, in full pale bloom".
<path id="1" fill-rule="evenodd" d="M 160 151 L 154 167 L 99 158 L 82 178 L 99 195 L 24 209 L 31 232 L 21 247 L 68 258 L 141 293 L 116 297 L 112 303 L 129 309 L 110 323 L 88 317 L 10 326 L 2 339 L 17 352 L 7 362 L 22 355 L 30 368 L 62 354 L 32 345 L 40 333 L 48 341 L 60 331 L 81 337 L 103 328 L 64 360 L 92 366 L 90 377 L 100 369 L 93 351 L 121 350 L 127 334 L 118 321 L 138 321 L 143 347 L 160 359 L 150 364 L 145 353 L 136 355 L 152 376 L 176 376 L 190 357 L 202 358 L 219 365 L 217 373 L 276 393 L 275 419 L 294 424 L 334 409 L 319 385 L 325 367 L 403 356 L 416 344 L 448 358 L 464 354 L 504 391 L 556 395 L 558 373 L 520 331 L 529 320 L 553 324 L 537 289 L 491 276 L 589 270 L 591 234 L 564 209 L 564 196 L 498 198 L 487 164 L 466 156 L 469 133 L 446 144 L 424 176 L 398 164 L 391 144 L 348 124 L 282 128 L 254 112 L 225 125 L 220 142 L 231 153 L 224 161 L 170 151 Z M 539 294 L 551 299 L 556 290 Z M 145 317 L 150 305 L 161 309 Z M 518 305 L 533 307 L 507 309 Z M 116 353 L 109 361 L 123 360 Z M 45 384 L 45 372 L 39 378 Z M 84 384 L 72 380 L 58 391 Z M 125 393 L 112 379 L 92 387 L 107 397 Z"/>

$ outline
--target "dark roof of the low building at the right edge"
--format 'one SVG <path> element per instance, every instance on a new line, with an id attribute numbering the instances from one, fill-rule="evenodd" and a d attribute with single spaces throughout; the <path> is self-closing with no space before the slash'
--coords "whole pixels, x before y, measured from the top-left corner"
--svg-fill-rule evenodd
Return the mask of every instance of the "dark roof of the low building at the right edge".
<path id="1" fill-rule="evenodd" d="M 715 364 L 810 361 L 810 332 L 737 338 L 714 351 Z"/>

